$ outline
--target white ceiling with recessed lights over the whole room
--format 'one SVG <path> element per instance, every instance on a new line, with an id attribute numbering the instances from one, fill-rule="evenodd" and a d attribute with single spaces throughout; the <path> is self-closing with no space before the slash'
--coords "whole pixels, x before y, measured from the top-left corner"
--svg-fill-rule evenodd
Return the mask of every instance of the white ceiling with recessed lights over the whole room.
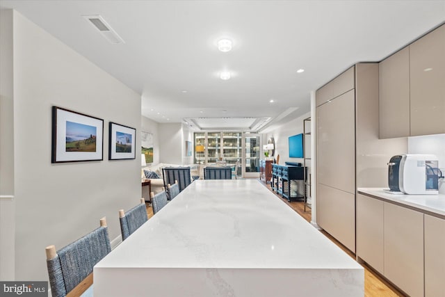
<path id="1" fill-rule="evenodd" d="M 307 113 L 310 92 L 350 65 L 381 61 L 445 21 L 445 1 L 0 0 L 0 7 L 139 93 L 147 118 L 257 131 Z M 109 42 L 83 15 L 100 15 L 124 42 Z M 220 38 L 232 40 L 231 51 L 218 51 Z M 231 79 L 220 79 L 222 71 Z"/>

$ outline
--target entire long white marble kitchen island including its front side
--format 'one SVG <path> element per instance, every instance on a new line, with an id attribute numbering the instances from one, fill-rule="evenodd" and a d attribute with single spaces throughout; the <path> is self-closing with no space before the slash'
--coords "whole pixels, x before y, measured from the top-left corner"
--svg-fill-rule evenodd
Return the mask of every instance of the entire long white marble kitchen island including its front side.
<path id="1" fill-rule="evenodd" d="M 364 296 L 364 269 L 257 179 L 197 180 L 95 266 L 94 296 Z"/>

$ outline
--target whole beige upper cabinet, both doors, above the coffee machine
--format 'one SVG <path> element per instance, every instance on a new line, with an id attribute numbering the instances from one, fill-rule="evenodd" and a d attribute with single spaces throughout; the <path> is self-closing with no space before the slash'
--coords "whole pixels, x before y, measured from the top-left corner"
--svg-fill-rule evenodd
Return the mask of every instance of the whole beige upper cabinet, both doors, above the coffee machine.
<path id="1" fill-rule="evenodd" d="M 445 25 L 379 67 L 380 138 L 445 133 Z"/>

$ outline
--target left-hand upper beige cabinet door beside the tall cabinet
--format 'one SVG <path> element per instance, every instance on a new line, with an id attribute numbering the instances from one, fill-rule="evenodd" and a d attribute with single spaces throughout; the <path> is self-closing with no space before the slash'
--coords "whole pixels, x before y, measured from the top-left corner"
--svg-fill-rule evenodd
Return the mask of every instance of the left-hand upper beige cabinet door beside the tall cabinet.
<path id="1" fill-rule="evenodd" d="M 410 136 L 410 51 L 408 47 L 379 63 L 380 138 Z"/>

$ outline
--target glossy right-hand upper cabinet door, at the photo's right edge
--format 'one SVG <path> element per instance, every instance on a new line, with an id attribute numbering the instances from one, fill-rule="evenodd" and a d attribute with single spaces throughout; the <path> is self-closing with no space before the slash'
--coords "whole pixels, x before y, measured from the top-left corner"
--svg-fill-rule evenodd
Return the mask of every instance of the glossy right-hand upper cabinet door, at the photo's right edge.
<path id="1" fill-rule="evenodd" d="M 445 133 L 445 25 L 410 45 L 411 136 Z"/>

